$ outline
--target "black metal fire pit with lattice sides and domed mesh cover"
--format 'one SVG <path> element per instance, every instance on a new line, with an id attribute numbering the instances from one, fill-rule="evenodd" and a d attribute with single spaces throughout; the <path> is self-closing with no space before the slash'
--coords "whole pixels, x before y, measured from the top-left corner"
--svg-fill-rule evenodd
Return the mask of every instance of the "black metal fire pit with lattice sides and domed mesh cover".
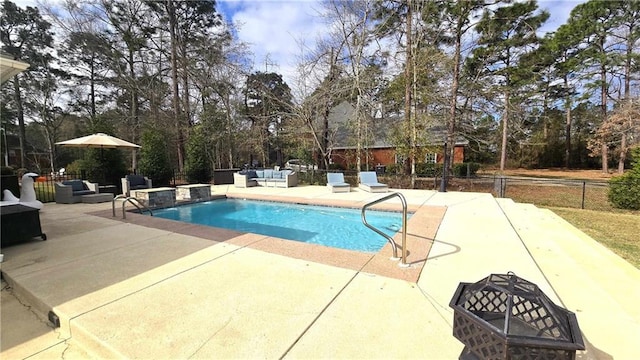
<path id="1" fill-rule="evenodd" d="M 460 359 L 575 359 L 584 350 L 575 314 L 513 273 L 460 283 L 449 306 Z"/>

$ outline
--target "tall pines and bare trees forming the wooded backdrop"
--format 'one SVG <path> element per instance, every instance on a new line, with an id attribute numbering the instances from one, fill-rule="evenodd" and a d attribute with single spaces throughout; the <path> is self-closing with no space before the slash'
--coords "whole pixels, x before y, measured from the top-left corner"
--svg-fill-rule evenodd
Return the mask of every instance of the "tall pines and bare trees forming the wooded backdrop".
<path id="1" fill-rule="evenodd" d="M 501 169 L 622 171 L 640 142 L 640 1 L 587 1 L 544 36 L 549 13 L 533 0 L 330 0 L 319 15 L 331 31 L 305 45 L 287 84 L 251 68 L 215 1 L 5 0 L 2 51 L 30 68 L 2 87 L 2 127 L 47 149 L 51 168 L 66 160 L 56 141 L 94 132 L 143 149 L 145 132 L 159 134 L 176 170 L 187 148 L 211 168 L 328 168 L 343 101 L 356 109 L 358 168 L 375 121 L 407 173 L 434 126 L 449 144 L 469 140 L 467 161 Z"/>

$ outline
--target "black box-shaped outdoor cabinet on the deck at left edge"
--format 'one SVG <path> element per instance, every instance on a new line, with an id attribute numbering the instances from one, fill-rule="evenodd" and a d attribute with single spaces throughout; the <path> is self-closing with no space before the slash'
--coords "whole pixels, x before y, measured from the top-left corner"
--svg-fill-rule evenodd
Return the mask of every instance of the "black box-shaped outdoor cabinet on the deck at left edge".
<path id="1" fill-rule="evenodd" d="M 34 237 L 47 240 L 40 226 L 40 210 L 24 205 L 0 206 L 2 229 L 0 246 L 16 244 Z"/>

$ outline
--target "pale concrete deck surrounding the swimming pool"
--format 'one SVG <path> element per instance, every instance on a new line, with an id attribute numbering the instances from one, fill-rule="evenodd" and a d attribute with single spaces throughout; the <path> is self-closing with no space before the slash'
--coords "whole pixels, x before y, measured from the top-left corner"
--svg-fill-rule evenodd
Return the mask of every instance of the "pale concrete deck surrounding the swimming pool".
<path id="1" fill-rule="evenodd" d="M 576 313 L 587 342 L 579 358 L 637 358 L 638 269 L 532 205 L 398 191 L 426 214 L 409 233 L 430 247 L 426 262 L 399 270 L 417 272 L 407 278 L 384 272 L 395 263 L 373 266 L 384 255 L 327 259 L 261 235 L 111 218 L 110 203 L 45 204 L 48 240 L 2 249 L 0 356 L 457 359 L 448 306 L 456 287 L 513 271 Z M 321 186 L 214 193 L 356 207 L 385 195 Z M 50 310 L 60 328 L 41 320 Z"/>

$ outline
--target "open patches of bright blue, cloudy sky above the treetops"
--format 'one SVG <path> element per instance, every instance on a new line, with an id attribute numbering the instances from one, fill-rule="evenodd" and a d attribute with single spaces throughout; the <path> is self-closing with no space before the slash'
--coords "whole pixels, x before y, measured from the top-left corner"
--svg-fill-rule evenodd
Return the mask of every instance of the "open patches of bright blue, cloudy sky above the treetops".
<path id="1" fill-rule="evenodd" d="M 540 8 L 550 13 L 542 31 L 553 31 L 565 23 L 571 10 L 584 1 L 539 0 Z M 37 0 L 14 2 L 21 7 L 37 6 Z M 249 45 L 254 71 L 282 74 L 290 87 L 304 46 L 312 47 L 327 32 L 318 16 L 320 0 L 218 0 L 217 8 L 227 22 L 236 24 L 238 39 Z"/>

